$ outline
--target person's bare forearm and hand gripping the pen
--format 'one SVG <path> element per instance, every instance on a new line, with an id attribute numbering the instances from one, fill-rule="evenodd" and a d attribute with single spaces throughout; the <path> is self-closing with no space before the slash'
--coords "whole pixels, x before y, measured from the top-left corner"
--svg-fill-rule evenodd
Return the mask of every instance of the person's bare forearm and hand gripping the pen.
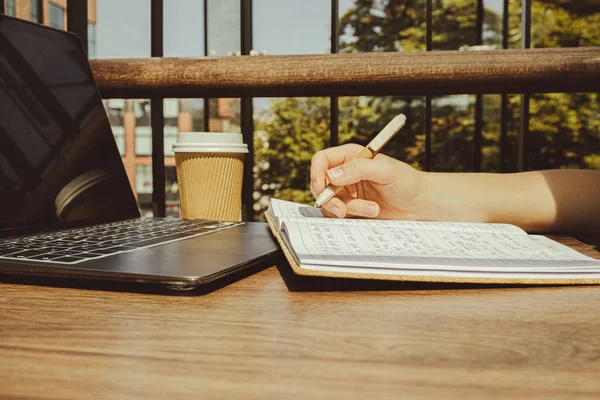
<path id="1" fill-rule="evenodd" d="M 382 154 L 352 159 L 360 149 L 349 144 L 313 157 L 315 195 L 328 182 L 344 186 L 323 205 L 325 215 L 499 222 L 528 232 L 600 238 L 600 171 L 419 172 Z"/>

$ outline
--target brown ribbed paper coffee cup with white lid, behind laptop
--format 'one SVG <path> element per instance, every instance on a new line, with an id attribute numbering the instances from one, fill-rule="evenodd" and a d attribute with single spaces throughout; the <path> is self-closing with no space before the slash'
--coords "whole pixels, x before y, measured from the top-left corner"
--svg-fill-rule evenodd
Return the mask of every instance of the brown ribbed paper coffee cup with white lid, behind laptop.
<path id="1" fill-rule="evenodd" d="M 173 145 L 183 219 L 240 221 L 244 155 L 239 133 L 180 132 Z"/>

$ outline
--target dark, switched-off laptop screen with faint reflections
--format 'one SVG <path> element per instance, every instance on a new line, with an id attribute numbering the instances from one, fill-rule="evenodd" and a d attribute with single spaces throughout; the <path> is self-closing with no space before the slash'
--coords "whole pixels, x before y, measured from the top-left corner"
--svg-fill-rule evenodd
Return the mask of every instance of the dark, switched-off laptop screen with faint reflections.
<path id="1" fill-rule="evenodd" d="M 0 237 L 137 216 L 79 39 L 0 15 Z"/>

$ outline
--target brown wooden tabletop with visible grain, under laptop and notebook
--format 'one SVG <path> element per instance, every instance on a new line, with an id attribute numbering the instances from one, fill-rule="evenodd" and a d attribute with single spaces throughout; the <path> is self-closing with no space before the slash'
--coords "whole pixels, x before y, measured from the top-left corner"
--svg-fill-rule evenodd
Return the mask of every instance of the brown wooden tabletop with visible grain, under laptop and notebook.
<path id="1" fill-rule="evenodd" d="M 600 287 L 293 292 L 276 268 L 204 296 L 0 284 L 2 399 L 291 395 L 599 398 Z"/>

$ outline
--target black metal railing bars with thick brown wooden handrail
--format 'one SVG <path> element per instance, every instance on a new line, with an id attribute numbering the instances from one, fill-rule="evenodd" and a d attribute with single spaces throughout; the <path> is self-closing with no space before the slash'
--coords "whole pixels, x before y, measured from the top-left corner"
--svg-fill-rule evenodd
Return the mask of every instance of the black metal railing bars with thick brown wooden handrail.
<path id="1" fill-rule="evenodd" d="M 331 1 L 331 53 L 337 53 L 339 1 Z M 0 6 L 3 0 L 0 0 Z M 433 50 L 433 1 L 426 0 L 426 52 L 368 53 L 315 56 L 268 56 L 206 59 L 161 59 L 163 54 L 163 0 L 150 0 L 153 59 L 97 60 L 93 70 L 106 98 L 149 97 L 153 103 L 153 205 L 165 214 L 163 107 L 165 97 L 203 97 L 208 130 L 210 97 L 240 97 L 242 133 L 253 137 L 252 97 L 327 96 L 331 99 L 331 145 L 338 143 L 338 98 L 345 95 L 425 95 L 425 170 L 431 168 L 432 95 L 476 94 L 475 170 L 481 169 L 482 96 L 502 94 L 500 149 L 506 157 L 508 93 L 521 94 L 519 169 L 527 156 L 529 94 L 600 91 L 600 48 L 497 50 L 459 52 Z M 509 1 L 503 2 L 502 47 L 508 48 Z M 67 0 L 67 24 L 87 46 L 87 1 Z M 204 0 L 204 40 L 208 51 L 208 0 Z M 1 11 L 1 10 L 0 10 Z M 252 49 L 252 0 L 240 0 L 240 49 Z M 483 42 L 483 0 L 476 3 L 475 44 Z M 521 47 L 530 47 L 531 0 L 521 2 Z M 206 53 L 205 53 L 206 55 Z M 160 104 L 160 106 L 158 106 Z M 479 157 L 477 156 L 479 154 Z M 254 158 L 247 158 L 244 204 L 251 210 Z M 250 217 L 251 212 L 246 214 Z"/>

